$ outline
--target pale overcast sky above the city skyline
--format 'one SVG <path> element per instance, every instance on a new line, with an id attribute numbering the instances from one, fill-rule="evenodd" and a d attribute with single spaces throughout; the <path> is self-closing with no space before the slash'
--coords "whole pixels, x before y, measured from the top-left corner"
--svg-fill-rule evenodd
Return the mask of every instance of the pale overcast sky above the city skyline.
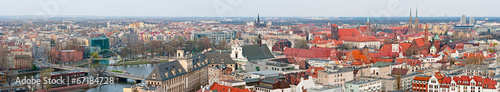
<path id="1" fill-rule="evenodd" d="M 1 15 L 500 17 L 500 0 L 0 0 Z M 415 16 L 415 15 L 413 15 Z"/>

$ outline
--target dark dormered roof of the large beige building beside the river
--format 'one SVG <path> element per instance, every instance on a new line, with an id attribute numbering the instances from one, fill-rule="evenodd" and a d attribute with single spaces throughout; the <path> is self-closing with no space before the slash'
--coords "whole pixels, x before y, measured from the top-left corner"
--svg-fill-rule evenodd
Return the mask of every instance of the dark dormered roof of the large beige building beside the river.
<path id="1" fill-rule="evenodd" d="M 184 70 L 181 63 L 178 60 L 175 60 L 157 65 L 146 80 L 164 81 L 186 73 L 187 72 Z"/>

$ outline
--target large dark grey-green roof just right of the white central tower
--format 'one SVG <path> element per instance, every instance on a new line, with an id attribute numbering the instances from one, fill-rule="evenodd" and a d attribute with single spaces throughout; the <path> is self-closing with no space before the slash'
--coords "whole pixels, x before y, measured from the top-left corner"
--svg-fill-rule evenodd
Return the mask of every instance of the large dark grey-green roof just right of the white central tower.
<path id="1" fill-rule="evenodd" d="M 261 59 L 269 59 L 274 58 L 274 55 L 271 53 L 266 44 L 259 45 L 246 45 L 242 46 L 243 48 L 243 56 L 248 60 L 261 60 Z"/>

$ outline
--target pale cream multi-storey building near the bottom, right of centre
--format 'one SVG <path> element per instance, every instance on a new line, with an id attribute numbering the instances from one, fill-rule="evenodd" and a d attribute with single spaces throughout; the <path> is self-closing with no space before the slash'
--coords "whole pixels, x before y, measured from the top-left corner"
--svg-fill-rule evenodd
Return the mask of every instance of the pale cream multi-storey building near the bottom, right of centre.
<path id="1" fill-rule="evenodd" d="M 318 72 L 316 83 L 344 86 L 346 81 L 354 80 L 354 73 L 348 69 L 332 69 Z"/>

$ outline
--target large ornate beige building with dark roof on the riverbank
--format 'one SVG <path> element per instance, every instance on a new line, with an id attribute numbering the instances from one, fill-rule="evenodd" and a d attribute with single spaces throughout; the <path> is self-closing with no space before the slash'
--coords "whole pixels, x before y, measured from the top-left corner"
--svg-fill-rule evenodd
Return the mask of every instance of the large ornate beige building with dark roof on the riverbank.
<path id="1" fill-rule="evenodd" d="M 200 57 L 198 57 L 200 56 Z M 146 85 L 133 88 L 124 88 L 130 92 L 194 92 L 201 86 L 208 85 L 208 65 L 203 54 L 193 56 L 187 60 L 187 65 L 180 61 L 170 61 L 160 64 L 146 78 Z"/>

